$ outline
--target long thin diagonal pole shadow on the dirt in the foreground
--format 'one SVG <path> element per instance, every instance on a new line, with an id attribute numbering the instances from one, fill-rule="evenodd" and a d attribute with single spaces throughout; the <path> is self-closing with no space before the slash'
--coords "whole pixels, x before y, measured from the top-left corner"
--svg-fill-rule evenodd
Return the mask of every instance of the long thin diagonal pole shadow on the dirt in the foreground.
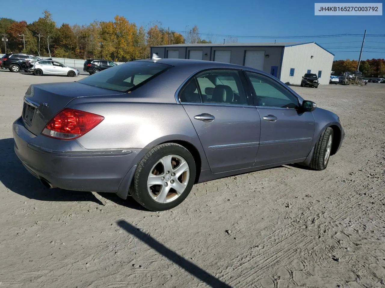
<path id="1" fill-rule="evenodd" d="M 148 235 L 145 231 L 142 232 L 140 228 L 138 229 L 137 227 L 131 225 L 130 223 L 124 220 L 117 221 L 117 225 L 122 229 L 126 230 L 126 232 L 130 233 L 132 236 L 141 240 L 143 243 L 146 243 L 149 247 L 154 249 L 156 252 L 163 255 L 163 257 L 166 257 L 167 259 L 171 260 L 182 269 L 186 270 L 188 273 L 196 277 L 198 280 L 206 283 L 209 287 L 231 288 L 231 286 L 227 285 L 226 283 L 219 280 L 218 278 L 215 278 L 213 275 L 204 271 L 198 265 L 192 263 L 189 260 L 186 260 L 181 255 L 167 248 L 162 243 L 158 242 L 156 239 Z"/>

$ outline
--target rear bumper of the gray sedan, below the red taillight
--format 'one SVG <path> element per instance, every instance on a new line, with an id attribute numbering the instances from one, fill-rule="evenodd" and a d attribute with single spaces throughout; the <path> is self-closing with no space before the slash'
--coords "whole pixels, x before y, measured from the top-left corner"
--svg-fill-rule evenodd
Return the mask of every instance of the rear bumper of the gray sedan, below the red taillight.
<path id="1" fill-rule="evenodd" d="M 78 151 L 61 151 L 60 143 L 68 147 L 69 141 L 36 136 L 25 128 L 21 117 L 13 123 L 13 138 L 17 157 L 33 176 L 52 187 L 77 191 L 118 192 L 143 150 L 88 151 L 71 140 L 76 141 L 73 147 L 79 147 Z"/>

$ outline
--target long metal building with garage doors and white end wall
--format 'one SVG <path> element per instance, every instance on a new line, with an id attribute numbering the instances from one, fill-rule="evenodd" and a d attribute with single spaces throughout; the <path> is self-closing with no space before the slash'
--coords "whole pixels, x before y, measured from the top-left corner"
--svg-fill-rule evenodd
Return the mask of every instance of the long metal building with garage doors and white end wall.
<path id="1" fill-rule="evenodd" d="M 315 42 L 174 44 L 151 47 L 161 58 L 210 60 L 249 66 L 299 85 L 305 73 L 329 84 L 334 54 Z"/>

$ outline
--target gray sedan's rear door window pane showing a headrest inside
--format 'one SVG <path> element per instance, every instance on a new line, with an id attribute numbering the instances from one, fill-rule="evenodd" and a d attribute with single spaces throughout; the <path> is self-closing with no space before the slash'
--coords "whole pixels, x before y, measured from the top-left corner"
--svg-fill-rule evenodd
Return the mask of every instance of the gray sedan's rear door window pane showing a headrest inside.
<path id="1" fill-rule="evenodd" d="M 196 76 L 203 103 L 248 105 L 239 71 L 213 70 Z"/>

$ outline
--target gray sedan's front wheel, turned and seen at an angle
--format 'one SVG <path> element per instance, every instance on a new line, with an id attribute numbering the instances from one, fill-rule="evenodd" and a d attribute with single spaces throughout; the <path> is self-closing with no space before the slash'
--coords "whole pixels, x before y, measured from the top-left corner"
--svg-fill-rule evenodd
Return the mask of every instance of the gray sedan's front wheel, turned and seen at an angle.
<path id="1" fill-rule="evenodd" d="M 328 166 L 333 144 L 333 129 L 327 127 L 318 138 L 314 147 L 313 157 L 310 161 L 310 168 L 314 170 L 323 170 Z"/>

